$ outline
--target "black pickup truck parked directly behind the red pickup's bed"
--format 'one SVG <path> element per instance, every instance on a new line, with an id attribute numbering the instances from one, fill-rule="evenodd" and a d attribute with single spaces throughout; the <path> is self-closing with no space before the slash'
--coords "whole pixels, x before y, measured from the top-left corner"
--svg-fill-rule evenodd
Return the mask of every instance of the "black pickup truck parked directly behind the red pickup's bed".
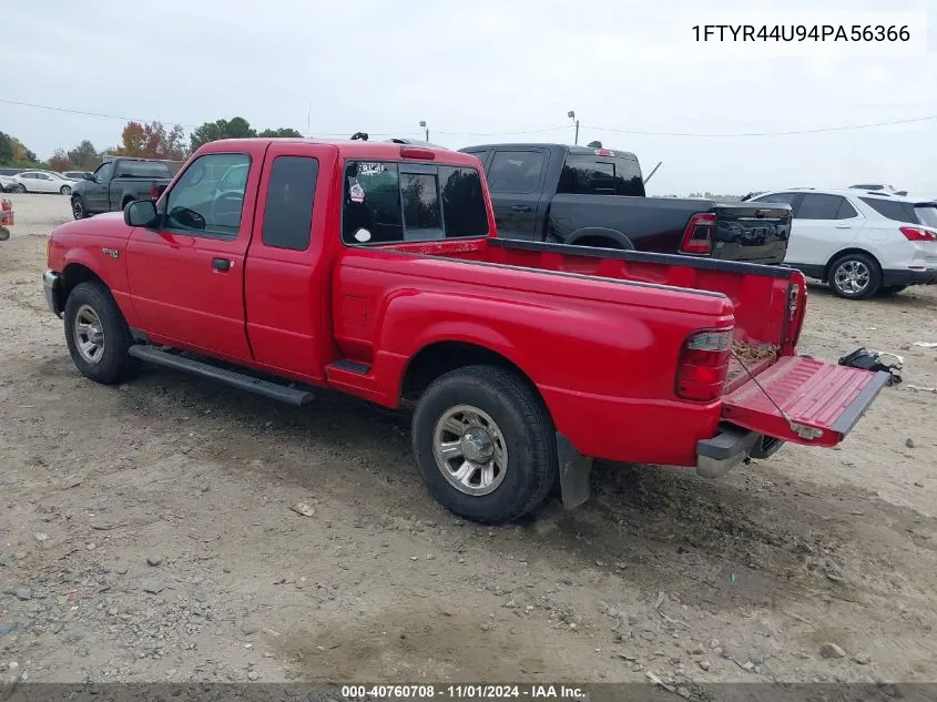
<path id="1" fill-rule="evenodd" d="M 498 236 L 776 265 L 791 208 L 648 197 L 633 153 L 561 144 L 460 151 L 485 166 Z"/>

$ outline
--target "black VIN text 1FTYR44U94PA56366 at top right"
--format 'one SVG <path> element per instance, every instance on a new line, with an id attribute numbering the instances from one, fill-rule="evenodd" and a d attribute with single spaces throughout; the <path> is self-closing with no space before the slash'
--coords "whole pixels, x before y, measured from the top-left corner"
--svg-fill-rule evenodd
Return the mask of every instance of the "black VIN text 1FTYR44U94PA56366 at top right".
<path id="1" fill-rule="evenodd" d="M 907 24 L 694 24 L 696 41 L 907 42 Z"/>

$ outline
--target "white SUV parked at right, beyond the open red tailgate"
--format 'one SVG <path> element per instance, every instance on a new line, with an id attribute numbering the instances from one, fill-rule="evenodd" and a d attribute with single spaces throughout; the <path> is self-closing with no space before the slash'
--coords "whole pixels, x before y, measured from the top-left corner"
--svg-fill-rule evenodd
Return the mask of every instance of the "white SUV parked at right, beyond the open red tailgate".
<path id="1" fill-rule="evenodd" d="M 750 201 L 791 205 L 784 263 L 841 297 L 937 284 L 937 202 L 813 187 L 767 191 Z"/>

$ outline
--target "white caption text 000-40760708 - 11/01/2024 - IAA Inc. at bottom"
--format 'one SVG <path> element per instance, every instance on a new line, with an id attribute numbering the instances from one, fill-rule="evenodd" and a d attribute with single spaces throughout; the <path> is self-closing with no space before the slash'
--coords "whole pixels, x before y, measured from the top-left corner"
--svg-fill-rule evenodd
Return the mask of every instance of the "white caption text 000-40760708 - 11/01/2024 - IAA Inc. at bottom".
<path id="1" fill-rule="evenodd" d="M 418 684 L 343 685 L 344 700 L 570 700 L 588 702 L 589 694 L 574 685 L 551 684 Z"/>

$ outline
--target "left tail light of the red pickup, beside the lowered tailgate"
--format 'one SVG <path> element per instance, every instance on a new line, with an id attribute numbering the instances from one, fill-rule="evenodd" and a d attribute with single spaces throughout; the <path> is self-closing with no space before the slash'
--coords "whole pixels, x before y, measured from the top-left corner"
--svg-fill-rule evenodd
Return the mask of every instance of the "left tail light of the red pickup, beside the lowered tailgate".
<path id="1" fill-rule="evenodd" d="M 695 332 L 683 343 L 676 368 L 676 396 L 710 401 L 722 395 L 729 359 L 732 355 L 732 329 Z"/>

